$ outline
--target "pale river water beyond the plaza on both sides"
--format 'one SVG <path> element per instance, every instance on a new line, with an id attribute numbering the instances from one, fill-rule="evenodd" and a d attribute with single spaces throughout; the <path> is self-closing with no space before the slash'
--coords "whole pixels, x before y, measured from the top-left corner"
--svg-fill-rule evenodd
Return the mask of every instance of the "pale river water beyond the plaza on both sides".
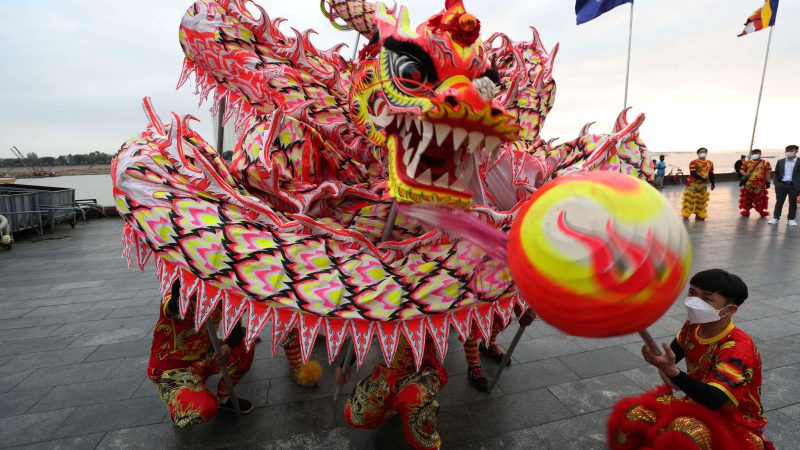
<path id="1" fill-rule="evenodd" d="M 654 153 L 657 157 L 661 153 Z M 694 153 L 663 153 L 667 155 L 667 164 L 672 168 L 680 167 L 688 173 L 689 162 L 696 156 Z M 782 158 L 783 154 L 770 152 L 765 154 L 775 166 L 777 159 Z M 714 153 L 710 152 L 708 159 L 714 162 L 717 173 L 733 172 L 733 163 L 739 159 L 738 153 Z M 667 169 L 669 172 L 670 169 Z M 17 181 L 19 184 L 33 184 L 39 186 L 58 186 L 75 189 L 75 198 L 95 198 L 103 206 L 113 206 L 114 196 L 111 192 L 111 175 L 74 175 L 53 178 L 25 178 Z"/>

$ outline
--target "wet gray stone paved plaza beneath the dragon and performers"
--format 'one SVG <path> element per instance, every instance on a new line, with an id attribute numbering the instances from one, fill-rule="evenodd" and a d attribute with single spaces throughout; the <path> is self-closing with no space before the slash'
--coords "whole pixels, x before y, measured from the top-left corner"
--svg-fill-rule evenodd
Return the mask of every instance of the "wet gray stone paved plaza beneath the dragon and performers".
<path id="1" fill-rule="evenodd" d="M 693 271 L 721 267 L 748 283 L 750 298 L 735 321 L 763 357 L 767 437 L 779 449 L 796 449 L 800 230 L 787 228 L 785 219 L 772 227 L 740 218 L 736 189 L 721 183 L 710 220 L 687 222 Z M 680 191 L 664 193 L 677 210 Z M 347 426 L 343 399 L 333 402 L 330 368 L 317 388 L 295 387 L 286 358 L 271 358 L 268 333 L 239 389 L 256 406 L 250 415 L 237 420 L 221 413 L 210 424 L 173 426 L 145 377 L 159 302 L 152 264 L 144 273 L 128 270 L 121 227 L 117 219 L 81 222 L 74 230 L 62 225 L 0 251 L 0 447 L 405 448 L 396 419 L 374 431 Z M 679 303 L 651 332 L 670 339 L 684 319 Z M 326 362 L 317 342 L 317 360 Z M 439 396 L 444 447 L 606 448 L 609 408 L 658 380 L 640 347 L 637 336 L 579 339 L 537 321 L 489 395 L 468 386 L 463 349 L 454 340 L 446 361 L 450 381 Z M 373 348 L 371 362 L 378 353 Z M 495 370 L 488 361 L 484 367 Z"/>

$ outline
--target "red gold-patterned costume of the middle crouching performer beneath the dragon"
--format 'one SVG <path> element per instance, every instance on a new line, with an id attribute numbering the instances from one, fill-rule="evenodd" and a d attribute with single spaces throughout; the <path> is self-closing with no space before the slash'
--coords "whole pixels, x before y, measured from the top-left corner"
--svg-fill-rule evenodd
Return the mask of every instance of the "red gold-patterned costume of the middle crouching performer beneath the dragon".
<path id="1" fill-rule="evenodd" d="M 400 415 L 406 441 L 415 449 L 438 449 L 439 403 L 436 394 L 447 384 L 447 370 L 429 340 L 420 369 L 405 337 L 397 344 L 391 366 L 378 364 L 359 381 L 344 405 L 344 418 L 355 428 L 375 428 Z"/>

